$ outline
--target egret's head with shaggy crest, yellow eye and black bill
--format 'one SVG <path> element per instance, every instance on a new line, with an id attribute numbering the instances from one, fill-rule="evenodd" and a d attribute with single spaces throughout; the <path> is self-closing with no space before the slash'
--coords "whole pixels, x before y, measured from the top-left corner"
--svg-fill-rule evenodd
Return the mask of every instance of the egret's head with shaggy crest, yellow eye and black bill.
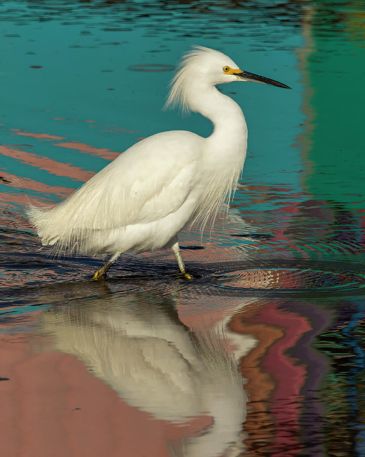
<path id="1" fill-rule="evenodd" d="M 273 79 L 241 70 L 223 52 L 195 46 L 182 57 L 179 63 L 171 81 L 171 90 L 165 107 L 180 105 L 182 111 L 187 111 L 190 108 L 194 90 L 233 81 L 255 81 L 290 89 L 289 86 Z"/>

